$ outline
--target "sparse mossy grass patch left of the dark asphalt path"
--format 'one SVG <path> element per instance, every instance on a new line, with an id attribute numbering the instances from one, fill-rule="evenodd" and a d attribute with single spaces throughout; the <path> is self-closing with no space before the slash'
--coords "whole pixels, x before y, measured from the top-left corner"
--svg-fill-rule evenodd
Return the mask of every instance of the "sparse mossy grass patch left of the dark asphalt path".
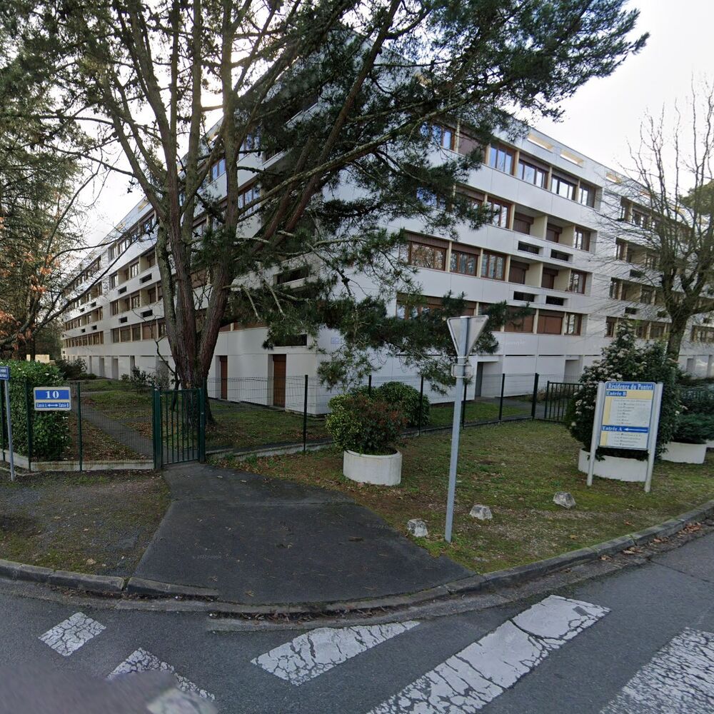
<path id="1" fill-rule="evenodd" d="M 0 558 L 130 575 L 169 506 L 156 473 L 26 473 L 0 483 Z"/>

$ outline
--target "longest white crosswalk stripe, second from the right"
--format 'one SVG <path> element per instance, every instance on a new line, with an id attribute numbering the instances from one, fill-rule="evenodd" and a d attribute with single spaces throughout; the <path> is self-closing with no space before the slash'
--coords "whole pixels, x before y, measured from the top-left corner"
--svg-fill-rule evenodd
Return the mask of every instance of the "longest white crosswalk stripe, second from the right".
<path id="1" fill-rule="evenodd" d="M 470 714 L 610 610 L 550 595 L 371 710 L 370 714 Z"/>

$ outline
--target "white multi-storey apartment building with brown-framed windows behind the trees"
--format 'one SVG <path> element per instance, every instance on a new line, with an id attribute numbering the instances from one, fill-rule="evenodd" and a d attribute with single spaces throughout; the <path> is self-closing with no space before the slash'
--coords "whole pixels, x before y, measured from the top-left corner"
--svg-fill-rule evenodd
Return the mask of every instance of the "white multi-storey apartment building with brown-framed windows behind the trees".
<path id="1" fill-rule="evenodd" d="M 468 151 L 473 146 L 456 130 L 432 131 L 434 151 Z M 244 161 L 261 158 L 255 154 Z M 575 381 L 583 367 L 600 356 L 621 319 L 635 320 L 643 340 L 666 336 L 668 318 L 651 286 L 656 256 L 621 238 L 618 231 L 616 218 L 636 223 L 642 213 L 623 198 L 615 171 L 535 130 L 516 141 L 494 142 L 487 147 L 484 162 L 457 190 L 497 208 L 493 223 L 478 230 L 461 226 L 458 241 L 428 235 L 416 220 L 388 226 L 408 232 L 408 261 L 418 266 L 417 278 L 428 303 L 438 304 L 452 291 L 464 293 L 470 311 L 483 311 L 500 301 L 534 309 L 531 318 L 497 333 L 495 354 L 473 358 L 479 375 L 475 389 L 481 378 L 502 374 L 537 372 L 553 381 Z M 211 171 L 218 195 L 224 191 L 224 172 L 224 162 Z M 238 180 L 246 186 L 247 203 L 258 190 L 254 175 L 239 171 Z M 618 215 L 608 216 L 613 211 Z M 168 341 L 162 338 L 153 221 L 146 201 L 135 206 L 103 247 L 91 253 L 71 286 L 63 356 L 84 358 L 89 371 L 98 376 L 119 378 L 134 367 L 153 372 L 162 360 L 171 362 Z M 299 284 L 303 277 L 286 266 L 275 279 Z M 364 289 L 371 287 L 365 283 Z M 391 308 L 410 318 L 399 296 Z M 698 316 L 687 337 L 682 368 L 695 376 L 714 376 L 712 316 Z M 341 343 L 338 333 L 328 330 L 319 334 L 316 344 L 298 338 L 294 346 L 271 351 L 263 348 L 265 339 L 264 326 L 233 323 L 223 328 L 209 396 L 226 398 L 231 378 L 274 377 L 281 383 L 283 376 L 314 376 L 319 360 L 325 358 L 315 347 L 329 352 Z M 398 378 L 407 371 L 397 358 L 377 359 L 375 374 Z M 286 405 L 280 388 L 266 400 Z"/>

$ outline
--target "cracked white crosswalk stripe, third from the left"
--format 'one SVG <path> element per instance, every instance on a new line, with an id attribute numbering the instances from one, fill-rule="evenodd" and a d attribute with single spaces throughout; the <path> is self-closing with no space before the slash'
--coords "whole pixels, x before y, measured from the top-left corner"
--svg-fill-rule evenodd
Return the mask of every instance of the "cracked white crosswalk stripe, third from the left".
<path id="1" fill-rule="evenodd" d="M 256 657 L 251 663 L 297 686 L 418 624 L 408 620 L 388 625 L 318 628 Z"/>

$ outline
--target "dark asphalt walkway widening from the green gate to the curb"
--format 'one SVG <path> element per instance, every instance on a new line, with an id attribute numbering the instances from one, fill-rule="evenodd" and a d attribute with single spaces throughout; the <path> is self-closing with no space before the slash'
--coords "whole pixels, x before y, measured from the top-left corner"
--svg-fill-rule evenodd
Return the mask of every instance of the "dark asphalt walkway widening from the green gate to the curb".
<path id="1" fill-rule="evenodd" d="M 257 605 L 411 593 L 471 575 L 336 491 L 198 463 L 165 478 L 173 501 L 137 578 Z"/>

